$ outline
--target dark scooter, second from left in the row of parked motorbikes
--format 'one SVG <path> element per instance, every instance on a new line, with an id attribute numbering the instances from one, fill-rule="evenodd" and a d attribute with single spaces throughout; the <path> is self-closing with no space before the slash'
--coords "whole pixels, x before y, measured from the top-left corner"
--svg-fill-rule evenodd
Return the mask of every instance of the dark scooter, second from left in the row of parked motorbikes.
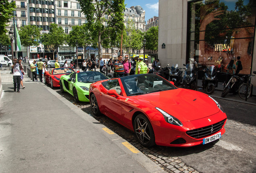
<path id="1" fill-rule="evenodd" d="M 182 88 L 187 89 L 190 87 L 192 90 L 196 90 L 197 88 L 197 82 L 196 82 L 196 72 L 195 72 L 195 66 L 194 64 L 183 64 L 186 68 L 185 74 L 183 76 L 183 83 Z"/>

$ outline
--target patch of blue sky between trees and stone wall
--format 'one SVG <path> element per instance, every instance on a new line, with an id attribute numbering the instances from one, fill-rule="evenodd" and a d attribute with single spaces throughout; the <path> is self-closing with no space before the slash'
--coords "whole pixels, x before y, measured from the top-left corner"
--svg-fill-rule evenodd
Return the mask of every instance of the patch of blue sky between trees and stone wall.
<path id="1" fill-rule="evenodd" d="M 145 20 L 158 16 L 158 0 L 124 0 L 126 7 L 141 6 L 145 10 Z"/>

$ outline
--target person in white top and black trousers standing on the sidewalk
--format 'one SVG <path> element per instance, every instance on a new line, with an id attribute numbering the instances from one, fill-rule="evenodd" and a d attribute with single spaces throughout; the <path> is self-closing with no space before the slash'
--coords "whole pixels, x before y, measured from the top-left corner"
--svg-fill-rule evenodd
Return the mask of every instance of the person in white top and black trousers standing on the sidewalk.
<path id="1" fill-rule="evenodd" d="M 17 93 L 20 93 L 20 86 L 21 86 L 21 73 L 20 73 L 21 62 L 19 62 L 17 60 L 17 58 L 14 58 L 14 64 L 12 65 L 12 69 L 13 69 L 13 85 L 14 85 L 13 91 L 16 92 L 16 89 L 17 89 Z"/>

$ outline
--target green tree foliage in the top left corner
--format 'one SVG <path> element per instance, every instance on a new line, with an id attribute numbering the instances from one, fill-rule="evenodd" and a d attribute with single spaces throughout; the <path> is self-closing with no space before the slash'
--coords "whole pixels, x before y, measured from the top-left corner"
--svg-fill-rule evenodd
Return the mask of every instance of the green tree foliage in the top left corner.
<path id="1" fill-rule="evenodd" d="M 8 0 L 0 1 L 0 34 L 6 33 L 5 29 L 10 22 L 10 19 L 13 17 L 13 11 L 16 8 L 15 2 L 9 2 Z"/>

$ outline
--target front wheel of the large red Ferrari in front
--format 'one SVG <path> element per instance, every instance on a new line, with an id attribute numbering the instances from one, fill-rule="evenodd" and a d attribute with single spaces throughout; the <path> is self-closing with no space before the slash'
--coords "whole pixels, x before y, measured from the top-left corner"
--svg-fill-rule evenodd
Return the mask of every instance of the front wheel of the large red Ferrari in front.
<path id="1" fill-rule="evenodd" d="M 133 129 L 137 140 L 145 147 L 152 147 L 155 145 L 155 134 L 153 127 L 143 114 L 139 114 L 133 122 Z"/>

